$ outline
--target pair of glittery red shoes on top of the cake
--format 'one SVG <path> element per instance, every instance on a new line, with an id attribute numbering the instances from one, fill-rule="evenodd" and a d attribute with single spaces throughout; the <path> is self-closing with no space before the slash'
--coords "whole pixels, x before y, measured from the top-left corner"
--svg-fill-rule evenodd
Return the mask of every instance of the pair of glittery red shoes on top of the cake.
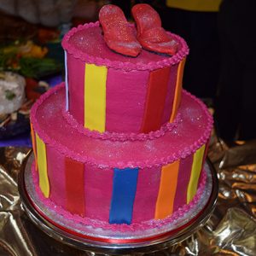
<path id="1" fill-rule="evenodd" d="M 161 27 L 160 16 L 150 5 L 136 4 L 131 13 L 137 24 L 137 35 L 118 6 L 108 4 L 100 10 L 99 20 L 110 49 L 133 57 L 139 55 L 142 48 L 168 55 L 177 52 L 177 42 Z"/>

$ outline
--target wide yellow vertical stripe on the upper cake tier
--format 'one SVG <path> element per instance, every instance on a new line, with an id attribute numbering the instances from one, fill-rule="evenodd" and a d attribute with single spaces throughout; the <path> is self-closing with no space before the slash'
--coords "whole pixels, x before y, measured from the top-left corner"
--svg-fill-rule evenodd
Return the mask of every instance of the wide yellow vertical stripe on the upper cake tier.
<path id="1" fill-rule="evenodd" d="M 85 65 L 84 127 L 103 132 L 106 122 L 107 67 Z"/>

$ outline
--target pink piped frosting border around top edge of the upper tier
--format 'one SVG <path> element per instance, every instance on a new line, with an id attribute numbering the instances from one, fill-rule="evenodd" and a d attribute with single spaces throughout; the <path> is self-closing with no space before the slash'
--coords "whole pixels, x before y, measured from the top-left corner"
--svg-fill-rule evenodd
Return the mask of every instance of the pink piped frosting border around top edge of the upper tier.
<path id="1" fill-rule="evenodd" d="M 113 67 L 113 68 L 122 69 L 125 71 L 131 71 L 131 70 L 152 71 L 157 68 L 169 67 L 170 65 L 175 65 L 179 61 L 182 61 L 183 58 L 189 54 L 189 47 L 186 44 L 185 40 L 175 34 L 172 34 L 171 32 L 168 32 L 168 33 L 172 35 L 172 38 L 176 40 L 181 46 L 180 49 L 177 51 L 177 54 L 171 57 L 166 57 L 166 59 L 161 61 L 149 62 L 148 64 L 145 64 L 143 62 L 138 62 L 135 64 L 129 61 L 127 62 L 110 61 L 108 59 L 103 59 L 100 57 L 88 55 L 82 52 L 81 50 L 77 49 L 73 44 L 69 44 L 69 39 L 72 38 L 76 32 L 84 30 L 88 27 L 95 27 L 95 26 L 100 26 L 99 21 L 96 21 L 95 23 L 92 23 L 92 22 L 86 23 L 84 25 L 79 25 L 78 27 L 73 27 L 73 29 L 71 29 L 69 32 L 67 32 L 67 34 L 65 34 L 62 40 L 61 44 L 63 49 L 66 49 L 69 54 L 72 54 L 75 58 L 78 58 L 81 61 L 85 61 L 86 63 L 96 64 L 98 66 Z"/>

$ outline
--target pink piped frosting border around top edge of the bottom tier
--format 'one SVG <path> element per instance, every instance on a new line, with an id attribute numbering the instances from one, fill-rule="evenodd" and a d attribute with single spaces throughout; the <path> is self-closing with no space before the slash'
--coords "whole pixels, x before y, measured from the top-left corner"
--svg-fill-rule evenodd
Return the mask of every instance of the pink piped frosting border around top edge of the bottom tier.
<path id="1" fill-rule="evenodd" d="M 203 112 L 207 116 L 206 131 L 202 134 L 202 136 L 198 139 L 198 141 L 196 141 L 195 143 L 191 144 L 190 146 L 184 148 L 183 150 L 179 150 L 177 153 L 173 153 L 167 157 L 163 157 L 163 158 L 157 159 L 157 160 L 135 161 L 135 162 L 129 161 L 128 163 L 118 162 L 118 163 L 110 163 L 109 165 L 100 164 L 100 163 L 97 163 L 97 161 L 94 158 L 89 158 L 86 155 L 77 154 L 77 153 L 73 152 L 72 150 L 70 150 L 69 148 L 61 145 L 61 143 L 57 143 L 54 138 L 50 138 L 47 135 L 47 133 L 44 131 L 44 127 L 41 127 L 40 125 L 38 125 L 38 121 L 36 119 L 36 113 L 37 113 L 38 107 L 49 96 L 57 93 L 58 90 L 64 89 L 64 87 L 65 87 L 64 83 L 61 83 L 61 84 L 55 86 L 55 88 L 48 90 L 46 93 L 44 93 L 44 95 L 40 96 L 38 101 L 34 103 L 32 109 L 31 109 L 32 125 L 34 127 L 34 131 L 38 133 L 38 136 L 44 141 L 44 143 L 51 145 L 52 147 L 54 147 L 56 150 L 58 150 L 64 156 L 67 156 L 69 158 L 72 158 L 73 160 L 77 160 L 82 163 L 87 163 L 90 166 L 99 166 L 101 168 L 107 168 L 107 167 L 108 168 L 114 168 L 114 167 L 116 167 L 116 168 L 131 167 L 132 168 L 134 166 L 137 166 L 139 168 L 145 168 L 145 167 L 150 168 L 152 166 L 164 166 L 164 165 L 170 164 L 176 160 L 184 159 L 187 156 L 189 156 L 190 154 L 194 154 L 198 148 L 201 148 L 201 146 L 203 144 L 207 143 L 208 138 L 211 136 L 212 124 L 213 124 L 212 115 L 208 112 L 207 107 L 205 106 L 205 104 L 203 102 L 201 102 L 195 96 L 192 96 L 189 92 L 183 90 L 183 94 L 190 96 L 192 99 L 194 99 L 194 101 L 197 102 L 201 106 Z"/>

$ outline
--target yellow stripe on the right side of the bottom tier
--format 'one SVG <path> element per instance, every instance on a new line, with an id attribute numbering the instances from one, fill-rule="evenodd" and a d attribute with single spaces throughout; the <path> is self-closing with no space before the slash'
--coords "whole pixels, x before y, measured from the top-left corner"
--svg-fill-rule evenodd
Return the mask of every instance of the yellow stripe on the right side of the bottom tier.
<path id="1" fill-rule="evenodd" d="M 194 195 L 196 194 L 197 184 L 198 184 L 198 179 L 201 173 L 201 165 L 204 157 L 205 148 L 206 148 L 206 145 L 203 145 L 201 148 L 197 149 L 193 157 L 193 164 L 192 164 L 192 169 L 191 169 L 191 174 L 189 179 L 189 187 L 187 191 L 187 203 L 189 203 L 193 199 Z"/>

